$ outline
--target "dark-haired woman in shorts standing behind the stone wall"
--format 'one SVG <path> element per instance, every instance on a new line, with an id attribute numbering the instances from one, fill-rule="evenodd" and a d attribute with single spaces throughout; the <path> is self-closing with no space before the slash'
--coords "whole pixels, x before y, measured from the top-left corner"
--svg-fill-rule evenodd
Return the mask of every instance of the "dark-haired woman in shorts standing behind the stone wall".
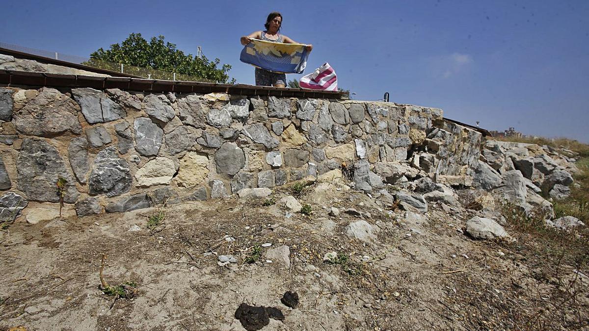
<path id="1" fill-rule="evenodd" d="M 252 38 L 272 41 L 284 42 L 285 44 L 300 44 L 299 42 L 281 35 L 280 26 L 282 25 L 282 15 L 279 12 L 271 12 L 266 19 L 266 31 L 256 31 L 250 35 L 241 37 L 241 45 L 247 45 L 252 42 Z M 311 51 L 313 45 L 307 45 L 307 51 Z M 264 69 L 256 68 L 256 85 L 260 86 L 274 86 L 286 87 L 286 74 L 277 74 Z"/>

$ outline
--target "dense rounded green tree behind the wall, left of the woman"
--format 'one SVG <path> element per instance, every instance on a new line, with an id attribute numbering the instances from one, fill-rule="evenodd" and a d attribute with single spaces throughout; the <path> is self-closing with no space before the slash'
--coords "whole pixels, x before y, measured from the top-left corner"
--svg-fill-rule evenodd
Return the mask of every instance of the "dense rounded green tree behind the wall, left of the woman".
<path id="1" fill-rule="evenodd" d="M 166 42 L 164 39 L 165 37 L 160 35 L 157 38 L 152 37 L 148 42 L 141 37 L 141 34 L 133 33 L 120 44 L 112 44 L 110 49 L 99 48 L 92 52 L 90 62 L 92 59 L 97 59 L 207 78 L 220 83 L 235 83 L 235 79 L 229 77 L 231 65 L 223 64 L 217 68 L 217 65 L 221 63 L 220 59 L 209 61 L 204 55 L 197 57 L 184 54 L 176 48 L 176 44 Z"/>

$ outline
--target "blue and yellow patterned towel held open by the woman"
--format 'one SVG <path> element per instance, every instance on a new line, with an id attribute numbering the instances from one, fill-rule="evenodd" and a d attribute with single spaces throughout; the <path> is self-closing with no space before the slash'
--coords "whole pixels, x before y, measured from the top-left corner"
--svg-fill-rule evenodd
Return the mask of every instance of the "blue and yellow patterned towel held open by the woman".
<path id="1" fill-rule="evenodd" d="M 241 62 L 286 74 L 302 74 L 307 65 L 306 45 L 252 39 L 241 51 Z"/>

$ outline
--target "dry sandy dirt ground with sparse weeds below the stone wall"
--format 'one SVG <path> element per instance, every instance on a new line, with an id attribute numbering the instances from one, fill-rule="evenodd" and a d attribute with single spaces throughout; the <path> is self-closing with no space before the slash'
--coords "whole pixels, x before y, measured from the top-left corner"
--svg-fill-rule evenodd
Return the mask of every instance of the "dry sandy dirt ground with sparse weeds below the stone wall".
<path id="1" fill-rule="evenodd" d="M 312 206 L 308 216 L 264 198 L 227 198 L 12 224 L 0 234 L 0 329 L 243 330 L 234 317 L 242 302 L 282 310 L 285 319 L 263 330 L 587 327 L 587 273 L 564 263 L 541 269 L 514 229 L 515 242 L 475 241 L 461 229 L 477 211 L 430 204 L 422 217 L 389 213 L 366 194 L 332 188 L 297 196 Z M 363 216 L 330 217 L 332 206 Z M 147 229 L 160 211 L 163 224 Z M 374 240 L 346 235 L 362 218 L 379 229 Z M 128 231 L 134 225 L 141 230 Z M 267 256 L 283 245 L 286 260 Z M 340 253 L 337 263 L 323 262 L 328 251 Z M 103 254 L 105 280 L 137 283 L 133 299 L 102 293 Z M 219 266 L 222 254 L 237 263 Z M 299 294 L 295 309 L 280 302 L 287 290 Z"/>

